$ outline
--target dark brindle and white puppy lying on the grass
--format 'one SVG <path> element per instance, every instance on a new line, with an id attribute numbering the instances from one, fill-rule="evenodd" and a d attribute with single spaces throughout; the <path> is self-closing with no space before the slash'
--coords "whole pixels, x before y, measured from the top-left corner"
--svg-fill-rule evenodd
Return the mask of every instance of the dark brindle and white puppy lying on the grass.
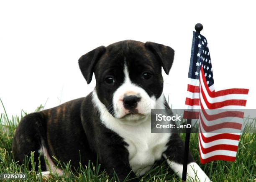
<path id="1" fill-rule="evenodd" d="M 87 97 L 26 115 L 13 139 L 15 160 L 41 152 L 43 170 L 62 171 L 54 155 L 72 167 L 96 163 L 124 180 L 144 175 L 162 157 L 182 176 L 184 144 L 177 134 L 151 133 L 151 109 L 169 109 L 163 94 L 163 67 L 172 67 L 174 50 L 154 42 L 125 40 L 97 47 L 79 59 L 87 84 L 96 87 Z M 44 159 L 49 161 L 45 165 Z M 36 161 L 37 163 L 39 161 Z M 187 175 L 210 181 L 189 154 Z M 138 181 L 138 178 L 134 179 Z"/>

